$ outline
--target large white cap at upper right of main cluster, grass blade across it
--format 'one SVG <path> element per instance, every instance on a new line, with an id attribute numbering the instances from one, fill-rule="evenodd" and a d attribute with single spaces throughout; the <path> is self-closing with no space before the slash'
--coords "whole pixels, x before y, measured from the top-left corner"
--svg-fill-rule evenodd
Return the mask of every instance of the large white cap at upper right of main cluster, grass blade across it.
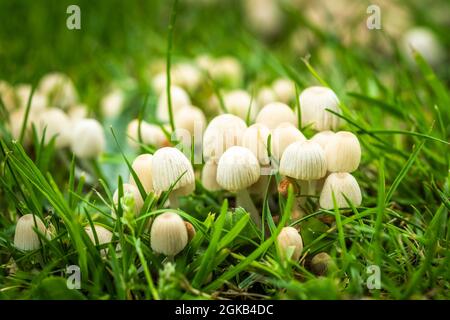
<path id="1" fill-rule="evenodd" d="M 317 131 L 336 130 L 339 127 L 338 116 L 325 110 L 341 113 L 339 99 L 333 90 L 326 87 L 309 87 L 300 94 L 302 126 L 312 124 Z"/>

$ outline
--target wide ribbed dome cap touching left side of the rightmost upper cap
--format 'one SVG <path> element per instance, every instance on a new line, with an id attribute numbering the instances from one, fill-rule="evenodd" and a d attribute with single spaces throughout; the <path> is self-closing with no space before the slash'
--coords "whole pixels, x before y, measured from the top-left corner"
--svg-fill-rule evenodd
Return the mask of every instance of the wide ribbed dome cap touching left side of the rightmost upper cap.
<path id="1" fill-rule="evenodd" d="M 281 175 L 299 180 L 316 180 L 325 176 L 326 172 L 325 152 L 311 140 L 290 144 L 281 156 Z"/>

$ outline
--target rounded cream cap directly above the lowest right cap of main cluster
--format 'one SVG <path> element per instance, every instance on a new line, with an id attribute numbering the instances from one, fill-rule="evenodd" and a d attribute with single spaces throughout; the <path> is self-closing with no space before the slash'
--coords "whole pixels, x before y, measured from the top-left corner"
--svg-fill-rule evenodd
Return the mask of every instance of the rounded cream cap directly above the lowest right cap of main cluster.
<path id="1" fill-rule="evenodd" d="M 351 132 L 336 133 L 325 147 L 328 171 L 353 172 L 361 161 L 361 146 L 358 138 Z"/>

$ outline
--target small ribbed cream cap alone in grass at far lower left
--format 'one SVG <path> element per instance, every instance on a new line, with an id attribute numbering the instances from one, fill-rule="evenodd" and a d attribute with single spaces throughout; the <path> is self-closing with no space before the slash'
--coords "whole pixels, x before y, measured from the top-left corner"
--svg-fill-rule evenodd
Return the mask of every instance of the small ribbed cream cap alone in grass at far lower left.
<path id="1" fill-rule="evenodd" d="M 50 238 L 47 228 L 38 216 L 33 217 L 32 214 L 26 214 L 20 217 L 17 220 L 16 231 L 14 233 L 14 246 L 24 251 L 39 249 L 41 243 L 35 229 L 46 235 L 47 238 Z"/>

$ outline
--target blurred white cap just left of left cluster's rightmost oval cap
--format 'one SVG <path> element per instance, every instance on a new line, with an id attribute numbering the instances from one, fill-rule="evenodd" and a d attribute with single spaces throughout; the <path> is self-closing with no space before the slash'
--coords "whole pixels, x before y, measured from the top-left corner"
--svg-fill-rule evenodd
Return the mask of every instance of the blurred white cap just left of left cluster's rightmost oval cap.
<path id="1" fill-rule="evenodd" d="M 56 147 L 64 148 L 70 144 L 71 122 L 69 117 L 60 109 L 51 108 L 42 112 L 36 120 L 36 129 L 39 139 L 42 138 L 45 130 L 44 142 L 46 144 L 54 136 L 56 136 Z"/>

